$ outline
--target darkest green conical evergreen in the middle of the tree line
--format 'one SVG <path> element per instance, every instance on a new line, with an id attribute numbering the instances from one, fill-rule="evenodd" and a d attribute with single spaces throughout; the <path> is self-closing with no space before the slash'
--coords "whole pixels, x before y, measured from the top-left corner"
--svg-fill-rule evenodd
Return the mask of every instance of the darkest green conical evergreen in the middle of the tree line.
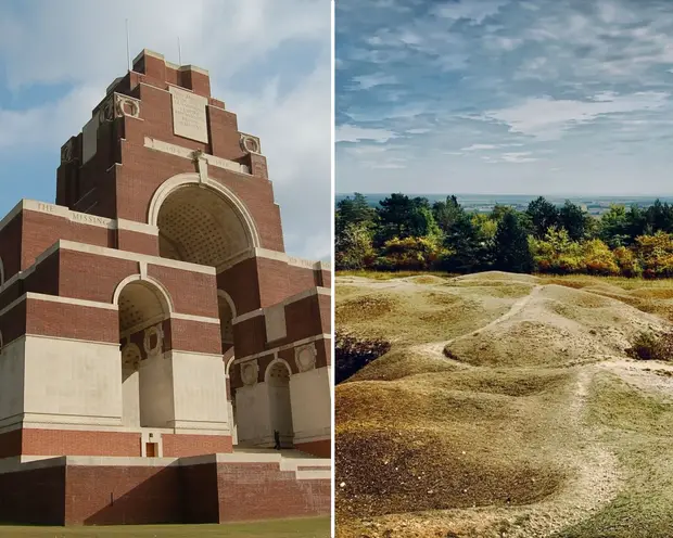
<path id="1" fill-rule="evenodd" d="M 498 222 L 494 241 L 495 267 L 501 271 L 531 272 L 533 256 L 528 234 L 517 215 L 505 213 Z"/>

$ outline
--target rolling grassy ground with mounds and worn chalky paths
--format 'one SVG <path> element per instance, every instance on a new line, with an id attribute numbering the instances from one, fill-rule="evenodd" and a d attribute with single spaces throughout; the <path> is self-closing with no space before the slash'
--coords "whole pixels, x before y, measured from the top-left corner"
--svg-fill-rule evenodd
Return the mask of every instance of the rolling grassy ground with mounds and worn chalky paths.
<path id="1" fill-rule="evenodd" d="M 340 538 L 670 538 L 673 280 L 336 274 Z"/>

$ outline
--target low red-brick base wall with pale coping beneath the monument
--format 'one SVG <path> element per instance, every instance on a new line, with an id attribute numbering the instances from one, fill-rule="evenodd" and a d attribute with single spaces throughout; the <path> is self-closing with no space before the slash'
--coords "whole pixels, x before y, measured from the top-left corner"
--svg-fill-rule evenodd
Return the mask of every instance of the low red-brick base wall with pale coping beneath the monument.
<path id="1" fill-rule="evenodd" d="M 0 462 L 4 523 L 226 523 L 331 509 L 329 460 L 299 452 L 8 460 Z"/>

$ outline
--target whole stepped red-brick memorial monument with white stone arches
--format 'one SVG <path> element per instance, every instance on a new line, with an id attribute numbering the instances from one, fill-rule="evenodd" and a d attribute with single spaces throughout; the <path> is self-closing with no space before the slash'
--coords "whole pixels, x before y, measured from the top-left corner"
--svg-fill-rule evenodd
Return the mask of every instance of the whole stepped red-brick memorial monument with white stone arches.
<path id="1" fill-rule="evenodd" d="M 207 72 L 141 52 L 56 178 L 0 221 L 0 520 L 328 514 L 331 269 Z"/>

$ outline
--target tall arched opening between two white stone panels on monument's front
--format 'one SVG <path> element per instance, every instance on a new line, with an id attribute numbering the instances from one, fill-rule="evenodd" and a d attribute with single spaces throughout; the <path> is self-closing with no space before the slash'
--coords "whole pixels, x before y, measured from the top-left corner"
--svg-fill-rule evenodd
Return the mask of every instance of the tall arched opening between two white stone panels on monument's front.
<path id="1" fill-rule="evenodd" d="M 156 283 L 131 277 L 115 293 L 122 346 L 122 423 L 166 427 L 173 421 L 173 374 L 164 360 L 170 299 Z"/>

